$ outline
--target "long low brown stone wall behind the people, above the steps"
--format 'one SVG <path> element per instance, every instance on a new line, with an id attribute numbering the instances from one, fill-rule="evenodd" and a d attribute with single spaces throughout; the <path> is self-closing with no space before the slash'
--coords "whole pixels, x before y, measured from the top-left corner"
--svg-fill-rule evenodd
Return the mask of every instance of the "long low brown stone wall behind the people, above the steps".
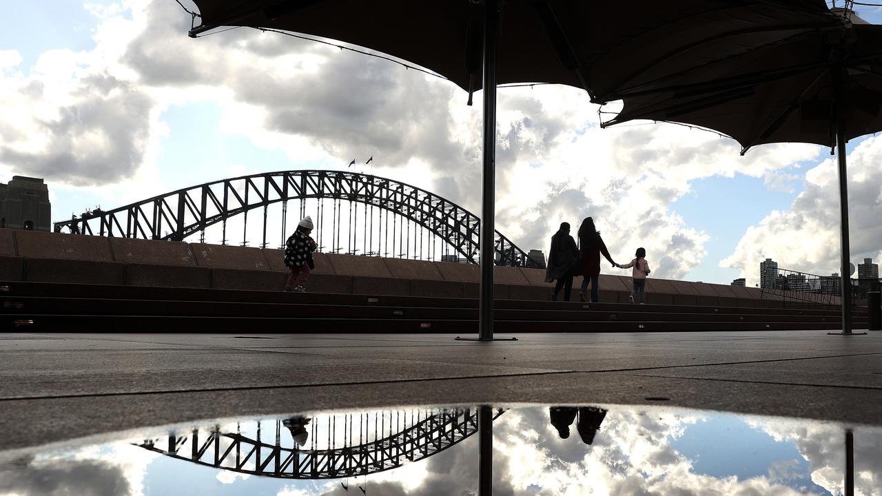
<path id="1" fill-rule="evenodd" d="M 3 281 L 281 290 L 289 274 L 282 256 L 280 250 L 243 246 L 0 229 Z M 316 292 L 478 296 L 480 274 L 474 265 L 333 253 L 316 253 L 315 260 L 309 287 Z M 495 282 L 499 299 L 544 300 L 553 289 L 541 269 L 496 267 Z M 581 282 L 574 278 L 572 300 Z M 601 274 L 602 301 L 626 303 L 630 289 L 630 277 Z M 647 303 L 766 307 L 784 302 L 756 288 L 650 278 Z"/>

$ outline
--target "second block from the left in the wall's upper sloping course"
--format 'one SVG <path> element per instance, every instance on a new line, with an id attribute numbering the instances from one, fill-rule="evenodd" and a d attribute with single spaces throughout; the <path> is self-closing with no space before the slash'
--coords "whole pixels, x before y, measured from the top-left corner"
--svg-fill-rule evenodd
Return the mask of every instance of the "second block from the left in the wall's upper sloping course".
<path id="1" fill-rule="evenodd" d="M 19 256 L 34 259 L 91 260 L 112 262 L 107 237 L 16 230 Z"/>

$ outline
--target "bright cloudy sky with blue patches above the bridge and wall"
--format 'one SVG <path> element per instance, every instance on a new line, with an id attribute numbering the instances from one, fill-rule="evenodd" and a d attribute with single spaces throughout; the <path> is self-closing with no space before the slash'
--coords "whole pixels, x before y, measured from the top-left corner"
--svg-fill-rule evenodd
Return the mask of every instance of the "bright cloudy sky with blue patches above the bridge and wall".
<path id="1" fill-rule="evenodd" d="M 0 181 L 46 178 L 54 221 L 248 173 L 353 158 L 368 171 L 371 155 L 370 172 L 480 211 L 481 106 L 452 83 L 244 28 L 193 40 L 174 0 L 0 1 Z M 572 87 L 504 88 L 498 102 L 497 229 L 521 248 L 547 250 L 559 222 L 592 215 L 617 261 L 645 246 L 659 277 L 752 285 L 766 257 L 838 272 L 828 149 L 741 157 L 672 124 L 601 130 Z M 851 259 L 878 259 L 882 141 L 848 151 Z"/>

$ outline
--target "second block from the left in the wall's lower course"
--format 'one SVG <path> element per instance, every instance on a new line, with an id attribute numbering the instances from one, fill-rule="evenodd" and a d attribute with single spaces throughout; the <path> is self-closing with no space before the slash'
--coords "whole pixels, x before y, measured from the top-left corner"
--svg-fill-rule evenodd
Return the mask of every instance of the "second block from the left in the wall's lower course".
<path id="1" fill-rule="evenodd" d="M 93 260 L 26 258 L 24 280 L 122 286 L 125 283 L 125 264 Z"/>

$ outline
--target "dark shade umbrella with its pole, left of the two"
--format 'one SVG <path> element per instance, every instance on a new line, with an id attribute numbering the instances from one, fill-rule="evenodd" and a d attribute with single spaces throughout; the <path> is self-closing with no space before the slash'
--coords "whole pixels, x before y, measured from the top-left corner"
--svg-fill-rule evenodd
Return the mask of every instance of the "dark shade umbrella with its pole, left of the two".
<path id="1" fill-rule="evenodd" d="M 696 0 L 698 1 L 698 0 Z M 704 0 L 701 0 L 704 1 Z M 377 50 L 483 92 L 479 339 L 493 336 L 496 86 L 557 83 L 587 89 L 593 3 L 569 0 L 194 0 L 198 36 L 250 26 Z"/>

